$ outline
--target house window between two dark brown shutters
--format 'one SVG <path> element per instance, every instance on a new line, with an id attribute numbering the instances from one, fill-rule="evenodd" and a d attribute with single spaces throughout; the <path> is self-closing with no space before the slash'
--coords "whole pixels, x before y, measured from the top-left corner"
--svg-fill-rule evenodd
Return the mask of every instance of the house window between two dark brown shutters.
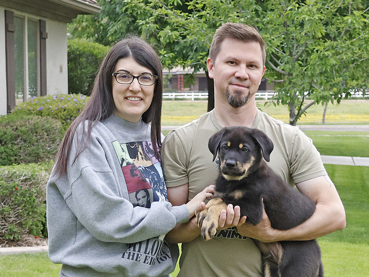
<path id="1" fill-rule="evenodd" d="M 40 96 L 39 23 L 14 16 L 15 104 Z"/>

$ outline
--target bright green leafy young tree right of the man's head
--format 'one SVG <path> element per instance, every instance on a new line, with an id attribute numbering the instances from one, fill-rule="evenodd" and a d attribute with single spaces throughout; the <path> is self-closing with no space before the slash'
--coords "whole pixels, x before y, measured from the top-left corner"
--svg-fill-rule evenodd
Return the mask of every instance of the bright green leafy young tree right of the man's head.
<path id="1" fill-rule="evenodd" d="M 279 80 L 277 103 L 289 106 L 290 124 L 314 104 L 339 103 L 348 89 L 368 86 L 362 74 L 369 59 L 367 3 L 265 2 L 263 12 L 268 77 Z M 314 102 L 306 105 L 306 98 Z"/>

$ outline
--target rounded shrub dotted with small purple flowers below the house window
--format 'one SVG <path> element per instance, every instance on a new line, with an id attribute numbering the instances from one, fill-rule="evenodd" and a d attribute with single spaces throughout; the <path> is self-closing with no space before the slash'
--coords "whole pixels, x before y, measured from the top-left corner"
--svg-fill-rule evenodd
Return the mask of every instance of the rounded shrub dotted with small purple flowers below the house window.
<path id="1" fill-rule="evenodd" d="M 34 97 L 16 106 L 12 111 L 17 115 L 48 116 L 59 120 L 65 130 L 83 110 L 89 97 L 83 94 L 54 94 Z"/>

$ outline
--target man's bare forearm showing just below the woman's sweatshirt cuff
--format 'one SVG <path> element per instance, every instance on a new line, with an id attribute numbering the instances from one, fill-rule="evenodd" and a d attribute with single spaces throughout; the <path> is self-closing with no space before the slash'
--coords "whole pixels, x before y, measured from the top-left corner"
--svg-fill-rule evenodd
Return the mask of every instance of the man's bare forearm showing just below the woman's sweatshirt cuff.
<path id="1" fill-rule="evenodd" d="M 192 217 L 189 222 L 176 225 L 166 235 L 169 243 L 186 243 L 196 239 L 201 233 L 201 229 L 197 226 L 196 216 Z"/>

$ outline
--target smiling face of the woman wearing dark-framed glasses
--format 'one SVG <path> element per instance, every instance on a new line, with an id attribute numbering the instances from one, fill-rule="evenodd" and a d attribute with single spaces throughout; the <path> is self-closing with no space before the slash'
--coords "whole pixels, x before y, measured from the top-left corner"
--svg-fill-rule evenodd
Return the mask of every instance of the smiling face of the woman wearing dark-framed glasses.
<path id="1" fill-rule="evenodd" d="M 153 72 L 138 64 L 133 57 L 120 58 L 114 67 L 114 72 L 130 73 L 138 76 L 143 74 L 153 74 Z M 138 79 L 134 78 L 131 84 L 119 84 L 112 76 L 112 92 L 114 100 L 113 113 L 129 122 L 138 122 L 146 112 L 154 97 L 155 84 L 152 86 L 142 86 Z"/>

